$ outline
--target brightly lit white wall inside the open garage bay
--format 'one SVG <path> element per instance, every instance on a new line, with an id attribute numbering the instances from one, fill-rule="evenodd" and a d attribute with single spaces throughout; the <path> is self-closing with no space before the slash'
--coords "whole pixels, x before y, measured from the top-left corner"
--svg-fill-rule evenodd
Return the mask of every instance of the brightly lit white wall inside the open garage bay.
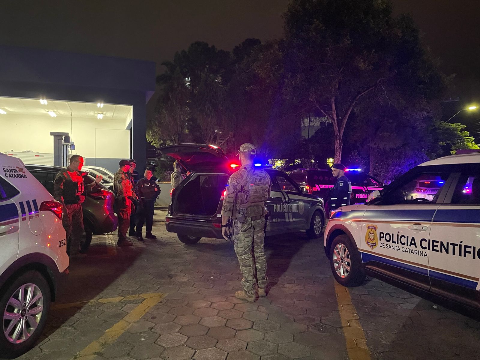
<path id="1" fill-rule="evenodd" d="M 98 120 L 0 114 L 0 152 L 31 150 L 53 153 L 50 132 L 68 132 L 75 143 L 72 154 L 89 158 L 129 158 L 130 132 L 125 120 Z"/>

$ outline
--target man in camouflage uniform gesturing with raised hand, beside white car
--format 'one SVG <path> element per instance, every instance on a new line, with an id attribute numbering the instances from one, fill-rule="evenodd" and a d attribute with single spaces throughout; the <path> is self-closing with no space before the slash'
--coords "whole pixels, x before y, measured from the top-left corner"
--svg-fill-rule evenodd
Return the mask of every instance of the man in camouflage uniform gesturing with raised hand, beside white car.
<path id="1" fill-rule="evenodd" d="M 67 253 L 70 257 L 81 256 L 80 239 L 84 232 L 84 215 L 82 203 L 85 200 L 84 178 L 79 173 L 84 166 L 84 158 L 72 155 L 70 164 L 61 170 L 53 181 L 53 197 L 63 204 L 62 224 L 67 236 Z M 87 185 L 90 191 L 102 181 L 102 176 L 96 176 L 91 184 Z"/>

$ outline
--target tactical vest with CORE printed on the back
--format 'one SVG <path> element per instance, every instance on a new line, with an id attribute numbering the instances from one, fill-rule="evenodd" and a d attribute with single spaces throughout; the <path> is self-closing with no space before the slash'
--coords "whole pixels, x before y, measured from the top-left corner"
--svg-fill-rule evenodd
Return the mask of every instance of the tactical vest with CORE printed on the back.
<path id="1" fill-rule="evenodd" d="M 264 169 L 249 169 L 239 184 L 236 209 L 237 220 L 244 222 L 246 217 L 258 219 L 265 215 L 265 201 L 268 200 L 270 178 Z"/>

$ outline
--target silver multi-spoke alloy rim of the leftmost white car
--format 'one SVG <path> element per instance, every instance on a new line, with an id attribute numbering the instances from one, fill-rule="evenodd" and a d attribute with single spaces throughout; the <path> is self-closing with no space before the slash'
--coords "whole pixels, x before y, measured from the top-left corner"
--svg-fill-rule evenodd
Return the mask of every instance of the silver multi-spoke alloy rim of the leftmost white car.
<path id="1" fill-rule="evenodd" d="M 3 334 L 12 344 L 28 340 L 43 313 L 43 294 L 35 284 L 16 289 L 3 311 Z"/>

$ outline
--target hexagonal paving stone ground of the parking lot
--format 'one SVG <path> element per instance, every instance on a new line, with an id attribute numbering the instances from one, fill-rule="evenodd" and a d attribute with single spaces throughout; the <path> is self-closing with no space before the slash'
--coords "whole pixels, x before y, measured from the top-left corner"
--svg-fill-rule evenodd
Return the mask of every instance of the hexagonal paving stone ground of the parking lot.
<path id="1" fill-rule="evenodd" d="M 158 218 L 158 216 L 157 216 Z M 287 360 L 473 359 L 480 323 L 383 281 L 339 287 L 322 240 L 304 233 L 266 241 L 266 298 L 234 297 L 240 271 L 233 245 L 202 239 L 184 245 L 164 224 L 156 240 L 115 247 L 95 236 L 88 257 L 70 266 L 70 281 L 53 305 L 36 347 L 19 359 Z M 144 300 L 158 303 L 113 344 L 80 351 Z"/>

